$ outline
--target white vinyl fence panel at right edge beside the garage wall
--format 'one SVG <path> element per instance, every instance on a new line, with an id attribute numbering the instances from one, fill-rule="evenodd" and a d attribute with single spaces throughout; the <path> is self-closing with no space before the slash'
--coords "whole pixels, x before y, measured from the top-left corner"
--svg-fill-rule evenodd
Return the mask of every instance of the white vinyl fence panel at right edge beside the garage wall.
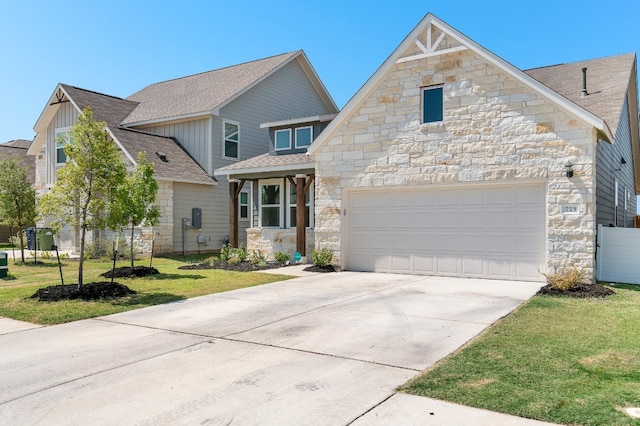
<path id="1" fill-rule="evenodd" d="M 640 229 L 598 225 L 596 279 L 640 284 Z"/>

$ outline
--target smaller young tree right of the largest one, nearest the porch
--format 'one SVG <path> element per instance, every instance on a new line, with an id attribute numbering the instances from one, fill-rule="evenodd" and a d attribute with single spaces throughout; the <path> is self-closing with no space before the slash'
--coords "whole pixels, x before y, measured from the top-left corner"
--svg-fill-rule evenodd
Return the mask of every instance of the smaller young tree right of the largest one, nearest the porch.
<path id="1" fill-rule="evenodd" d="M 160 210 L 155 205 L 158 182 L 153 177 L 153 163 L 147 161 L 146 153 L 138 154 L 133 173 L 128 175 L 118 191 L 117 203 L 111 210 L 110 226 L 131 228 L 131 270 L 133 270 L 133 234 L 136 226 L 154 226 L 160 219 Z M 153 255 L 153 253 L 152 253 Z"/>

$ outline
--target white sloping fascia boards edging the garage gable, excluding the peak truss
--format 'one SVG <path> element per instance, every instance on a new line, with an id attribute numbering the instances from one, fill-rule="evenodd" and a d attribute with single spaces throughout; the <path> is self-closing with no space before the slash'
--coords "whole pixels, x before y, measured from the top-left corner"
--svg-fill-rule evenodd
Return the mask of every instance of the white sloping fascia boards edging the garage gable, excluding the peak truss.
<path id="1" fill-rule="evenodd" d="M 436 27 L 445 31 L 448 35 L 453 37 L 459 43 L 463 44 L 470 50 L 472 50 L 475 54 L 482 57 L 489 63 L 493 64 L 497 68 L 506 72 L 511 77 L 516 80 L 522 82 L 523 84 L 529 86 L 533 90 L 537 91 L 541 95 L 545 96 L 559 107 L 569 112 L 570 114 L 582 119 L 589 125 L 592 125 L 596 129 L 600 130 L 607 138 L 613 140 L 613 136 L 611 134 L 611 130 L 608 128 L 606 123 L 599 117 L 591 114 L 584 108 L 579 107 L 575 103 L 571 102 L 567 98 L 558 94 L 557 92 L 551 90 L 544 84 L 540 83 L 533 77 L 529 77 L 522 70 L 516 68 L 511 65 L 504 59 L 498 57 L 494 53 L 480 46 L 478 43 L 471 40 L 469 37 L 465 36 L 458 30 L 450 27 L 449 25 L 442 22 L 435 15 L 428 13 L 422 21 L 405 37 L 405 39 L 400 43 L 400 45 L 389 55 L 387 60 L 376 70 L 375 73 L 367 80 L 367 82 L 356 92 L 356 94 L 347 102 L 345 107 L 340 111 L 335 120 L 333 120 L 327 128 L 318 136 L 318 138 L 313 141 L 313 143 L 309 146 L 307 152 L 309 154 L 313 154 L 317 151 L 317 149 L 324 144 L 326 140 L 328 140 L 333 132 L 338 129 L 344 121 L 349 117 L 350 112 L 356 105 L 360 103 L 363 99 L 365 99 L 369 93 L 378 85 L 380 80 L 387 74 L 387 72 L 396 65 L 398 60 L 400 59 L 400 55 L 404 52 L 411 43 L 414 42 L 418 38 L 420 32 L 422 32 L 427 24 L 432 23 Z"/>

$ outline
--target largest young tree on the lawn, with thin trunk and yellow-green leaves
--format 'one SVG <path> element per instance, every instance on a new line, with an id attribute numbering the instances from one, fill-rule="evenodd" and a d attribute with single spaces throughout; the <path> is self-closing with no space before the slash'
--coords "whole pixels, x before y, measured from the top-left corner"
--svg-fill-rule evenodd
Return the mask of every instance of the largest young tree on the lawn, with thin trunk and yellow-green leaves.
<path id="1" fill-rule="evenodd" d="M 106 131 L 104 122 L 93 119 L 90 107 L 82 111 L 66 139 L 67 163 L 58 170 L 56 183 L 42 197 L 42 213 L 53 218 L 60 230 L 71 225 L 80 231 L 78 289 L 82 291 L 84 249 L 87 231 L 107 227 L 110 203 L 127 174 L 122 153 Z"/>

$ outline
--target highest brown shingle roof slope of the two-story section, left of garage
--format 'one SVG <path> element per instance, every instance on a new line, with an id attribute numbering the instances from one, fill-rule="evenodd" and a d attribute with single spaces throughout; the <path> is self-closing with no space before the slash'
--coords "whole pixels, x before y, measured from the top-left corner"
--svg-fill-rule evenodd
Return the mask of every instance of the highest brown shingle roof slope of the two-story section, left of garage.
<path id="1" fill-rule="evenodd" d="M 123 125 L 211 112 L 301 51 L 155 83 L 129 96 L 139 102 Z"/>

